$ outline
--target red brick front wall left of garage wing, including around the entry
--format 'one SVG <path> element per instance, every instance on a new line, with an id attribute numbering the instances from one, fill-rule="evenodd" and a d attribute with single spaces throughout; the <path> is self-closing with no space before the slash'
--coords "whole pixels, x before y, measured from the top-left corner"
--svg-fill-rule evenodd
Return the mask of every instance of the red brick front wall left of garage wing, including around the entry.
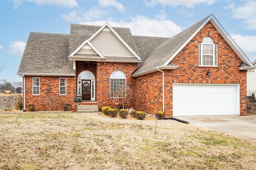
<path id="1" fill-rule="evenodd" d="M 86 64 L 86 68 L 85 65 Z M 115 70 L 121 70 L 126 75 L 126 85 L 135 89 L 135 79 L 132 78 L 132 72 L 136 70 L 137 64 L 134 63 L 101 63 L 101 62 L 76 62 L 76 76 L 25 76 L 26 80 L 26 111 L 29 111 L 29 106 L 34 105 L 36 111 L 49 111 L 49 100 L 54 98 L 51 102 L 51 111 L 63 110 L 63 107 L 68 104 L 70 110 L 77 111 L 77 105 L 74 103 L 77 92 L 77 77 L 78 74 L 84 70 L 88 70 L 96 77 L 95 83 L 95 99 L 96 103 L 79 103 L 82 105 L 98 104 L 101 106 L 110 106 L 112 108 L 119 108 L 122 102 L 116 105 L 110 98 L 110 74 Z M 32 95 L 32 78 L 40 78 L 40 95 Z M 66 95 L 59 95 L 59 78 L 66 78 Z M 49 86 L 50 85 L 50 86 Z M 50 91 L 49 91 L 50 90 Z M 130 100 L 130 104 L 125 103 L 125 108 L 135 107 L 135 93 L 134 98 Z"/>

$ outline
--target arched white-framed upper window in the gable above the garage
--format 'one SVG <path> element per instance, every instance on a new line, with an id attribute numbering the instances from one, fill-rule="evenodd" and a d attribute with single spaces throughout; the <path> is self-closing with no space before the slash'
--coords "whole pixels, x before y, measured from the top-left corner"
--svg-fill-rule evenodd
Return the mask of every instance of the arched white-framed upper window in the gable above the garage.
<path id="1" fill-rule="evenodd" d="M 217 66 L 218 45 L 214 44 L 211 37 L 204 37 L 202 43 L 198 43 L 198 63 L 200 66 Z"/>

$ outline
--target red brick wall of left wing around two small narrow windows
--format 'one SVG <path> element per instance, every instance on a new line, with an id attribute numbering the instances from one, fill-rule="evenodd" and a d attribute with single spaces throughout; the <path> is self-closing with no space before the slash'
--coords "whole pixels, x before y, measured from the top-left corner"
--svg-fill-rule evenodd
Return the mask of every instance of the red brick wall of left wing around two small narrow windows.
<path id="1" fill-rule="evenodd" d="M 40 95 L 32 93 L 33 77 L 40 78 Z M 60 95 L 59 78 L 66 78 L 66 95 Z M 50 102 L 51 111 L 64 110 L 63 107 L 66 104 L 70 105 L 70 109 L 72 109 L 72 103 L 76 98 L 75 79 L 72 76 L 25 76 L 25 111 L 29 111 L 30 105 L 34 105 L 36 111 L 49 111 L 50 100 L 52 100 Z"/>

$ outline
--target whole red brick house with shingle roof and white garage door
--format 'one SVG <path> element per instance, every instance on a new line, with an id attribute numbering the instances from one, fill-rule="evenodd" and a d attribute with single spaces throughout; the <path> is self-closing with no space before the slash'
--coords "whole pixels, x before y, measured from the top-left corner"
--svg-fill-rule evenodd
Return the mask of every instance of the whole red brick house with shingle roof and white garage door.
<path id="1" fill-rule="evenodd" d="M 114 92 L 129 86 L 135 95 L 125 107 L 172 117 L 246 115 L 246 72 L 254 68 L 210 15 L 172 38 L 134 36 L 108 23 L 71 24 L 69 35 L 31 32 L 17 74 L 24 111 L 119 108 Z"/>

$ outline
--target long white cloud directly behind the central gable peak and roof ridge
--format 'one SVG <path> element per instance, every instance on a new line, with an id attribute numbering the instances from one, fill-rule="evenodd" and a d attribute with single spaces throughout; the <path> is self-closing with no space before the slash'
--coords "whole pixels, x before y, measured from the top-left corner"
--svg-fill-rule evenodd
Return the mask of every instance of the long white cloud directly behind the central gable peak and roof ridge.
<path id="1" fill-rule="evenodd" d="M 132 35 L 155 36 L 155 37 L 173 37 L 182 31 L 181 27 L 170 20 L 150 20 L 146 16 L 136 16 L 131 18 L 131 22 L 112 22 L 112 21 L 92 21 L 81 22 L 86 25 L 104 25 L 108 22 L 112 27 L 128 27 Z"/>

